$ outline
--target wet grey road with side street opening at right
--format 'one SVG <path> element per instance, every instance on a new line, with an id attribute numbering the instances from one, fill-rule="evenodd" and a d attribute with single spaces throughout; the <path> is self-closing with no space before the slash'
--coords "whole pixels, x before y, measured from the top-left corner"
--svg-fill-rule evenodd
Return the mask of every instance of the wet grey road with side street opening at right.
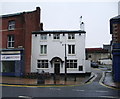
<path id="1" fill-rule="evenodd" d="M 87 84 L 64 87 L 2 87 L 3 97 L 96 97 L 104 99 L 118 98 L 120 90 L 105 87 L 99 83 L 102 71 L 93 69 L 96 78 Z"/>

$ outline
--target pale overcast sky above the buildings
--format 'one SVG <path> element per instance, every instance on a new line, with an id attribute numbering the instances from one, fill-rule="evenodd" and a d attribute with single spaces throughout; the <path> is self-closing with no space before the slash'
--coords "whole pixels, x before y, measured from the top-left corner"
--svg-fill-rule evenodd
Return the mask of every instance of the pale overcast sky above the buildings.
<path id="1" fill-rule="evenodd" d="M 57 1 L 57 0 L 56 0 Z M 85 23 L 86 47 L 102 47 L 110 44 L 110 23 L 118 15 L 119 0 L 34 0 L 8 1 L 0 3 L 0 15 L 41 8 L 41 22 L 44 30 L 80 30 L 80 16 Z"/>

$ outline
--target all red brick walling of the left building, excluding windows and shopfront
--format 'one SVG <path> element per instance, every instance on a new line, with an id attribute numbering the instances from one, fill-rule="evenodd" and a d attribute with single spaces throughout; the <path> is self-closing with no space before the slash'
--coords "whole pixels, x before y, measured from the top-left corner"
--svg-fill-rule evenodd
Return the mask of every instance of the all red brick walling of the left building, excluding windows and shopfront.
<path id="1" fill-rule="evenodd" d="M 8 31 L 8 21 L 15 20 L 15 30 Z M 18 16 L 0 18 L 2 21 L 2 48 L 7 49 L 7 35 L 15 37 L 15 48 L 23 46 L 25 58 L 25 73 L 31 70 L 31 35 L 32 31 L 40 30 L 40 8 L 35 11 L 23 12 Z"/>

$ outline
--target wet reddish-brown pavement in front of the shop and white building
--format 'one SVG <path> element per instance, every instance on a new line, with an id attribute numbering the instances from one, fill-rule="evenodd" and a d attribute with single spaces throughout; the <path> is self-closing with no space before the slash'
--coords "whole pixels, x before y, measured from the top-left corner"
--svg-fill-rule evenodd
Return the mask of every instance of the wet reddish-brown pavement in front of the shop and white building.
<path id="1" fill-rule="evenodd" d="M 67 81 L 64 80 L 64 76 L 56 76 L 56 80 L 53 76 L 45 79 L 44 84 L 39 85 L 81 85 L 84 84 L 90 78 L 86 76 L 67 76 Z M 38 85 L 38 79 L 22 78 L 22 77 L 5 77 L 0 76 L 2 84 L 20 84 L 20 85 Z"/>

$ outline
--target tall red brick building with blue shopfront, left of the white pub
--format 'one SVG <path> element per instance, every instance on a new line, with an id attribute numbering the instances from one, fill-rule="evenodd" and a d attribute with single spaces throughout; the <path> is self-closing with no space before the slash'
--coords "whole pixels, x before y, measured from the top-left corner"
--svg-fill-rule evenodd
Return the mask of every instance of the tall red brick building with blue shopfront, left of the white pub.
<path id="1" fill-rule="evenodd" d="M 40 8 L 34 11 L 0 16 L 1 71 L 21 76 L 30 72 L 31 32 L 39 31 Z"/>

